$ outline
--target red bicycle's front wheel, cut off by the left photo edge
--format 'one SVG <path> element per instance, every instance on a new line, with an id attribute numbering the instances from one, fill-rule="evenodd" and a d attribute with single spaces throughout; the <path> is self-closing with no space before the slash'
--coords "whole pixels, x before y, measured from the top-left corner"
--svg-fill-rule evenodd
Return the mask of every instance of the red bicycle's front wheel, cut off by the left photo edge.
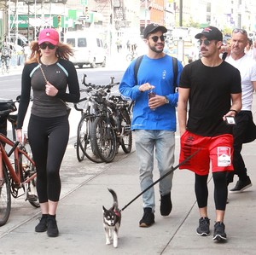
<path id="1" fill-rule="evenodd" d="M 11 210 L 11 194 L 9 177 L 3 164 L 3 180 L 0 180 L 0 226 L 3 226 L 9 219 Z"/>

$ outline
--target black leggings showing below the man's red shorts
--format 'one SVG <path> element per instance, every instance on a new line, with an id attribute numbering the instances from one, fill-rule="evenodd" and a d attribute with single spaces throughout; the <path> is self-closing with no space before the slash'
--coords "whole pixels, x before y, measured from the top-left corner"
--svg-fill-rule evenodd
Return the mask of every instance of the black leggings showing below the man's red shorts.
<path id="1" fill-rule="evenodd" d="M 228 197 L 228 187 L 226 181 L 226 171 L 217 171 L 212 173 L 212 178 L 214 182 L 214 201 L 215 209 L 225 211 L 227 197 Z M 197 200 L 197 205 L 199 208 L 207 206 L 208 200 L 208 187 L 207 187 L 206 176 L 200 176 L 195 174 L 195 196 Z"/>

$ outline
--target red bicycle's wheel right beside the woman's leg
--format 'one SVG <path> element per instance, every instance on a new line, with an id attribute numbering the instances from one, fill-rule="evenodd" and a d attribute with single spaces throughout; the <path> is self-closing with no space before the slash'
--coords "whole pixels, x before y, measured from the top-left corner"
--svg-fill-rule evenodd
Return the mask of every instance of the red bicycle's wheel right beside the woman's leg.
<path id="1" fill-rule="evenodd" d="M 29 158 L 32 159 L 32 150 L 29 144 L 28 139 L 26 139 L 26 142 L 24 144 L 24 151 L 29 156 Z M 36 173 L 36 167 L 32 164 L 32 162 L 26 158 L 26 156 L 21 155 L 21 165 L 22 165 L 22 174 L 23 174 L 23 180 L 22 182 L 25 182 L 26 179 L 29 177 L 32 177 Z M 38 208 L 40 207 L 39 200 L 38 200 L 38 192 L 37 192 L 37 177 L 33 178 L 30 182 L 24 183 L 24 192 L 25 192 L 25 200 L 28 200 L 29 203 Z"/>

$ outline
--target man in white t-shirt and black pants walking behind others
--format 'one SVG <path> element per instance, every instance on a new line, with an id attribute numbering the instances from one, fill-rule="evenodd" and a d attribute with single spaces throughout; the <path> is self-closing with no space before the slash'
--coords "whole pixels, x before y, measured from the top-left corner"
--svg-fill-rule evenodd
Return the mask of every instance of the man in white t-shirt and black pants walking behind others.
<path id="1" fill-rule="evenodd" d="M 242 144 L 252 142 L 256 138 L 256 127 L 253 123 L 252 103 L 253 90 L 256 90 L 256 62 L 245 54 L 247 46 L 247 32 L 243 29 L 234 29 L 231 39 L 231 54 L 225 61 L 236 67 L 241 73 L 241 112 L 236 114 L 236 125 L 233 129 L 234 136 L 234 170 L 228 174 L 227 182 L 232 183 L 234 174 L 239 177 L 235 188 L 230 193 L 240 193 L 252 186 L 247 168 L 241 156 Z M 256 47 L 256 43 L 254 42 Z M 256 48 L 255 48 L 256 49 Z"/>

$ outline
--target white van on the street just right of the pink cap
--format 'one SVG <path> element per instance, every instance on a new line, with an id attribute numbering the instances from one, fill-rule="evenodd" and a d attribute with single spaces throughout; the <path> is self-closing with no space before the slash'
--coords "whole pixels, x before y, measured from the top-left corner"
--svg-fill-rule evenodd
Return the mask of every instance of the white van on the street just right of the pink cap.
<path id="1" fill-rule="evenodd" d="M 65 43 L 74 48 L 74 55 L 70 58 L 75 66 L 82 68 L 84 65 L 90 65 L 91 68 L 96 65 L 106 66 L 106 49 L 99 36 L 91 32 L 76 31 L 67 32 L 64 37 Z"/>

